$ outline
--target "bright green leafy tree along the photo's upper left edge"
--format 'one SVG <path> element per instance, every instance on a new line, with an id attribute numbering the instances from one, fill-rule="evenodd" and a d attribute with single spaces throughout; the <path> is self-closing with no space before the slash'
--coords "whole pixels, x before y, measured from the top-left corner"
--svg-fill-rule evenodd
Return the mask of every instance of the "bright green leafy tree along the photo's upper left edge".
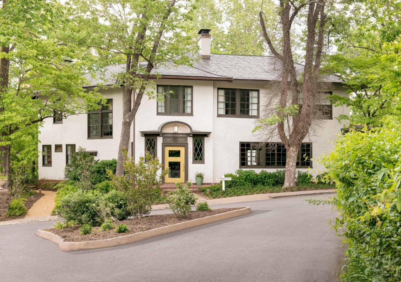
<path id="1" fill-rule="evenodd" d="M 24 135 L 36 139 L 45 118 L 86 112 L 98 107 L 101 97 L 82 89 L 83 65 L 72 63 L 79 49 L 60 40 L 68 23 L 61 4 L 51 0 L 0 4 L 0 154 L 10 187 L 13 144 Z"/>

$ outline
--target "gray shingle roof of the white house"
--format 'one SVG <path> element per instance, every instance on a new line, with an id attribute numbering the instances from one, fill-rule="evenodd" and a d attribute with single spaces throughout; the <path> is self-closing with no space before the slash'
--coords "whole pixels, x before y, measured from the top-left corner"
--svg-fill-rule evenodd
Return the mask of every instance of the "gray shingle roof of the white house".
<path id="1" fill-rule="evenodd" d="M 182 76 L 198 77 L 218 80 L 280 80 L 281 65 L 273 56 L 247 56 L 211 54 L 210 59 L 201 59 L 197 54 L 186 54 L 191 58 L 192 67 L 175 66 L 172 62 L 158 65 L 152 70 L 152 74 L 160 73 L 162 77 Z M 113 84 L 117 73 L 124 71 L 125 64 L 111 65 L 105 68 L 103 75 L 93 79 L 90 74 L 85 75 L 87 85 Z M 295 64 L 296 71 L 302 73 L 304 66 Z M 335 75 L 323 77 L 326 82 L 341 82 Z"/>

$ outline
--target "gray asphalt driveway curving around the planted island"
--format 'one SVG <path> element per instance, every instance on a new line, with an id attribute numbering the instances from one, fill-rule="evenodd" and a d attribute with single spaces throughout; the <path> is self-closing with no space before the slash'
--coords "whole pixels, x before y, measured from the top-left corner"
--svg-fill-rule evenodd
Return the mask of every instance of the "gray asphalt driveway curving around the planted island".
<path id="1" fill-rule="evenodd" d="M 99 250 L 62 252 L 34 235 L 54 221 L 0 226 L 0 281 L 337 281 L 335 212 L 308 197 L 212 206 L 253 213 Z"/>

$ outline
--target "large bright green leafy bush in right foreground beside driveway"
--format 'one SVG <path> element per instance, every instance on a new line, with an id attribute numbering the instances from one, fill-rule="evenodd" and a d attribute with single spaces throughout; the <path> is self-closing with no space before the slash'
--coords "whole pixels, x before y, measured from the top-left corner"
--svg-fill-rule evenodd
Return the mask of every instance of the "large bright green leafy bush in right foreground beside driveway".
<path id="1" fill-rule="evenodd" d="M 337 187 L 334 227 L 348 244 L 343 281 L 401 280 L 401 125 L 383 123 L 340 138 L 324 160 Z"/>

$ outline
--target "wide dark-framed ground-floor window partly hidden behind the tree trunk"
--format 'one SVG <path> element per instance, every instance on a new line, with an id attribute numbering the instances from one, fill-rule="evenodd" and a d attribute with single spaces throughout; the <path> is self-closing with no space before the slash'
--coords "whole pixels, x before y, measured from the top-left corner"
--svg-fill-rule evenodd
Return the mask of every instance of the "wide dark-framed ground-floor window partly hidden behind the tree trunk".
<path id="1" fill-rule="evenodd" d="M 302 143 L 298 151 L 296 166 L 312 167 L 312 143 Z M 287 162 L 287 150 L 279 142 L 240 142 L 240 168 L 284 168 Z"/>

